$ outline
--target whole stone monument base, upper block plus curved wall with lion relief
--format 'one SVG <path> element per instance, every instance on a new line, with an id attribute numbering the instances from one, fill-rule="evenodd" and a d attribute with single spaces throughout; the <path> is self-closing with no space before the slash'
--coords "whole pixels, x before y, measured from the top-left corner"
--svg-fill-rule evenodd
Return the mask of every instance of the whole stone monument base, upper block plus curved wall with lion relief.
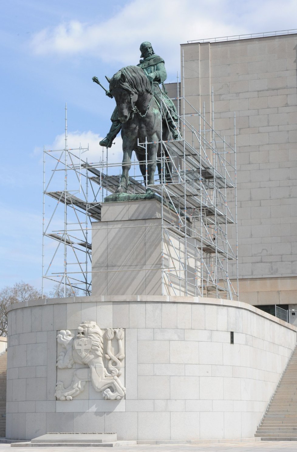
<path id="1" fill-rule="evenodd" d="M 157 200 L 102 205 L 91 297 L 9 306 L 6 438 L 254 436 L 296 328 L 238 301 L 161 295 L 162 252 L 178 264 L 162 246 L 160 209 Z M 177 218 L 168 209 L 163 221 Z"/>

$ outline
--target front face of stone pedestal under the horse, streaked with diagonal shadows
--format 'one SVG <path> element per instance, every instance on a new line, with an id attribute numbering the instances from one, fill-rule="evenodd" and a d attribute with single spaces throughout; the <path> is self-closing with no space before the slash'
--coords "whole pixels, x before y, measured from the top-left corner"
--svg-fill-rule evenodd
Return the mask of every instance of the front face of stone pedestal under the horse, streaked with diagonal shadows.
<path id="1" fill-rule="evenodd" d="M 92 225 L 92 292 L 161 295 L 161 204 L 106 202 Z"/>

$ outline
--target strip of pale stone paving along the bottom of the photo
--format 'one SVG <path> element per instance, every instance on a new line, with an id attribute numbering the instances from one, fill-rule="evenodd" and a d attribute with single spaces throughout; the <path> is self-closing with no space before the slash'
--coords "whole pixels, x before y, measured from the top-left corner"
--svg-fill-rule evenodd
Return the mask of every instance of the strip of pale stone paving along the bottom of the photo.
<path id="1" fill-rule="evenodd" d="M 64 449 L 65 450 L 65 449 Z M 66 452 L 95 452 L 110 448 L 101 447 L 67 447 Z M 251 443 L 211 443 L 211 444 L 154 444 L 119 446 L 116 452 L 283 452 L 297 450 L 296 441 L 257 441 Z M 10 444 L 0 444 L 0 452 L 61 452 L 61 447 L 17 447 Z"/>

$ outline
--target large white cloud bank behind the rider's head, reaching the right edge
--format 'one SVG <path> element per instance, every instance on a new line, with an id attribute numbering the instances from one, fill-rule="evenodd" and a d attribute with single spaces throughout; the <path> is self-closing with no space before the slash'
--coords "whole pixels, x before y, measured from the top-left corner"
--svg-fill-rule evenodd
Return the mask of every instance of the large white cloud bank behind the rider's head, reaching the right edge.
<path id="1" fill-rule="evenodd" d="M 72 20 L 37 33 L 31 45 L 38 55 L 91 54 L 122 65 L 137 63 L 139 44 L 151 40 L 166 57 L 169 71 L 179 66 L 180 43 L 201 38 L 231 36 L 293 28 L 295 0 L 133 0 L 99 24 Z M 290 27 L 291 24 L 291 27 Z M 261 28 L 261 29 L 259 29 Z"/>

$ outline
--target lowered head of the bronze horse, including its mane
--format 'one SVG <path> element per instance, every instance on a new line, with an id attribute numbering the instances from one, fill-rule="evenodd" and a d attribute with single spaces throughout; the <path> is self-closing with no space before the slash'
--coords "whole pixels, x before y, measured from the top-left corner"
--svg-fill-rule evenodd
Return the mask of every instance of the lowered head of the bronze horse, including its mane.
<path id="1" fill-rule="evenodd" d="M 151 95 L 151 85 L 144 71 L 138 66 L 123 67 L 110 80 L 110 93 L 114 96 L 119 120 L 127 122 L 135 113 L 136 104 L 145 94 Z"/>

